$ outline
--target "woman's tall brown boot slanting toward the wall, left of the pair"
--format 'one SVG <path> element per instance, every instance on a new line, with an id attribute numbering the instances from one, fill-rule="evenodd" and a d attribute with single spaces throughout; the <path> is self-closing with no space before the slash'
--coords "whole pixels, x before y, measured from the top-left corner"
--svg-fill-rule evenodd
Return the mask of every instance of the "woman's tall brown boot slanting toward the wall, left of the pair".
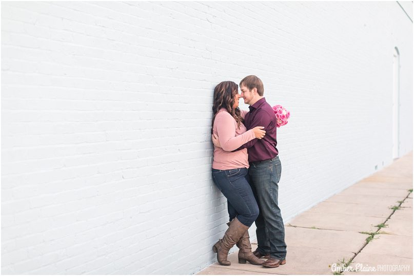
<path id="1" fill-rule="evenodd" d="M 224 233 L 223 239 L 220 239 L 213 245 L 213 251 L 217 252 L 217 261 L 221 265 L 231 265 L 227 261 L 227 254 L 231 247 L 236 244 L 244 235 L 249 227 L 241 223 L 237 218 L 234 218 L 230 223 L 229 228 Z"/>

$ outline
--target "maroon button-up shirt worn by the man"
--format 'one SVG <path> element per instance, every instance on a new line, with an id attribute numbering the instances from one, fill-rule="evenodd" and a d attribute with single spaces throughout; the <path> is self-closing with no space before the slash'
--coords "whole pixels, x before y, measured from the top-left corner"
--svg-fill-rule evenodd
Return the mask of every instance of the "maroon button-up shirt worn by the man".
<path id="1" fill-rule="evenodd" d="M 244 117 L 244 125 L 247 130 L 255 126 L 264 126 L 266 135 L 262 139 L 253 139 L 241 147 L 247 148 L 249 162 L 272 159 L 279 154 L 276 145 L 276 116 L 270 104 L 265 98 L 261 98 L 253 105 L 250 105 L 249 112 Z"/>

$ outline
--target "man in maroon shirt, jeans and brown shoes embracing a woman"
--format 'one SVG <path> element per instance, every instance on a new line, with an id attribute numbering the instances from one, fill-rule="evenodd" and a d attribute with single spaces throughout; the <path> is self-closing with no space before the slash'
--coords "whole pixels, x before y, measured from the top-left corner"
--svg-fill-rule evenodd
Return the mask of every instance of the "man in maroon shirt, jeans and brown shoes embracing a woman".
<path id="1" fill-rule="evenodd" d="M 253 253 L 258 258 L 269 258 L 263 266 L 278 267 L 286 263 L 285 228 L 278 206 L 278 183 L 282 173 L 279 152 L 276 148 L 276 117 L 270 104 L 263 97 L 263 82 L 257 76 L 247 76 L 240 81 L 241 97 L 249 104 L 244 118 L 247 130 L 264 126 L 266 135 L 253 139 L 240 147 L 249 154 L 249 176 L 251 188 L 259 205 L 257 227 L 258 249 Z M 213 143 L 220 146 L 213 137 Z"/>

